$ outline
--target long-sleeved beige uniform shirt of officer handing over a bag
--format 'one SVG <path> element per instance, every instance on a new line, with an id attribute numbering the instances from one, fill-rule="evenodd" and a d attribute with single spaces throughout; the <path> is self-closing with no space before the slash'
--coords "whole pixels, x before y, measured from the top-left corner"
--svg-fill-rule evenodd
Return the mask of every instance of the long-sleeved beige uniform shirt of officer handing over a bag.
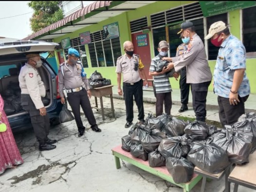
<path id="1" fill-rule="evenodd" d="M 212 80 L 212 73 L 201 38 L 194 34 L 182 57 L 173 57 L 175 71 L 186 66 L 187 83 L 202 83 Z"/>

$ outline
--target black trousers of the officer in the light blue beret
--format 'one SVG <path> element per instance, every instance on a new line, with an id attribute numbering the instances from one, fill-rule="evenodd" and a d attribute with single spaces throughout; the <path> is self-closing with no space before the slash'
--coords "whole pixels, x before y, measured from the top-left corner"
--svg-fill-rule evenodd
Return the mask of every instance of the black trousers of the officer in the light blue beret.
<path id="1" fill-rule="evenodd" d="M 78 92 L 68 93 L 67 95 L 68 95 L 67 99 L 72 109 L 72 112 L 74 114 L 74 119 L 75 119 L 76 126 L 78 128 L 78 131 L 85 130 L 85 127 L 83 126 L 83 122 L 81 119 L 80 106 L 82 107 L 82 110 L 85 113 L 85 116 L 89 124 L 91 125 L 91 128 L 96 128 L 97 127 L 96 120 L 91 109 L 91 103 L 87 95 L 86 89 L 82 89 L 81 91 L 78 91 Z"/>

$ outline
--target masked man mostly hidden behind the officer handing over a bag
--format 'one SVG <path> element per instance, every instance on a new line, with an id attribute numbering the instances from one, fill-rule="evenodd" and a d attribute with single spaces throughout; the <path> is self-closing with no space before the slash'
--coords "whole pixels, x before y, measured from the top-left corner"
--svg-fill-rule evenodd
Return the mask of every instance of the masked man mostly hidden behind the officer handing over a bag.
<path id="1" fill-rule="evenodd" d="M 181 35 L 182 41 L 183 43 L 181 45 L 179 45 L 179 47 L 177 48 L 177 52 L 176 52 L 176 57 L 183 57 L 184 53 L 187 50 L 187 46 L 189 43 L 189 38 L 184 38 Z M 179 110 L 179 112 L 184 112 L 186 110 L 188 110 L 187 107 L 187 103 L 188 103 L 188 96 L 189 96 L 189 88 L 190 88 L 190 84 L 186 83 L 186 67 L 184 66 L 181 70 L 180 70 L 180 89 L 181 89 L 181 103 L 182 103 L 182 107 Z"/>

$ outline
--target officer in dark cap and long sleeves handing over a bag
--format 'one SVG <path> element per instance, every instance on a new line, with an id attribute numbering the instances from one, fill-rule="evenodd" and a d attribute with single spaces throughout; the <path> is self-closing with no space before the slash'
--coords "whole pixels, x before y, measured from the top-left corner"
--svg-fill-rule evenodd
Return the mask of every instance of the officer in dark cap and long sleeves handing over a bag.
<path id="1" fill-rule="evenodd" d="M 207 61 L 204 45 L 201 38 L 195 32 L 195 27 L 191 21 L 185 21 L 181 24 L 181 31 L 178 32 L 183 38 L 188 39 L 189 43 L 184 57 L 167 58 L 169 63 L 167 68 L 173 68 L 180 71 L 186 67 L 186 82 L 190 83 L 193 109 L 198 121 L 205 122 L 206 117 L 206 96 L 208 87 L 212 80 L 212 73 Z M 164 58 L 165 59 L 165 58 Z"/>

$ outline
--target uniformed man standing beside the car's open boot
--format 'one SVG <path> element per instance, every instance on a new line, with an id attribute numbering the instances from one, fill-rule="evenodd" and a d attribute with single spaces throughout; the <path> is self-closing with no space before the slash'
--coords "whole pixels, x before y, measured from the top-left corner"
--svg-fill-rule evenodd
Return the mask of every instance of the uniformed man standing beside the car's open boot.
<path id="1" fill-rule="evenodd" d="M 41 67 L 42 61 L 38 53 L 27 54 L 27 63 L 21 67 L 18 80 L 21 89 L 21 106 L 31 118 L 39 150 L 52 150 L 57 141 L 51 140 L 49 134 L 50 120 L 42 102 L 46 95 L 45 86 L 38 74 L 37 68 Z"/>

